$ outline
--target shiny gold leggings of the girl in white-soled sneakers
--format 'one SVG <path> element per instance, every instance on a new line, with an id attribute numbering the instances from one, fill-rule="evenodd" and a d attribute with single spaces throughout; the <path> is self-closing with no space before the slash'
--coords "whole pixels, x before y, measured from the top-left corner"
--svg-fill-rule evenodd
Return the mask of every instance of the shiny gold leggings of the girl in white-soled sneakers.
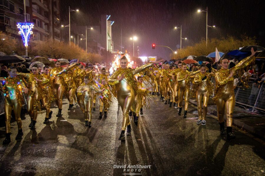
<path id="1" fill-rule="evenodd" d="M 207 105 L 209 101 L 209 94 L 207 90 L 198 89 L 196 93 L 196 99 L 198 104 L 198 116 L 199 120 L 204 120 L 207 114 Z M 201 114 L 201 101 L 203 99 L 203 114 Z"/>

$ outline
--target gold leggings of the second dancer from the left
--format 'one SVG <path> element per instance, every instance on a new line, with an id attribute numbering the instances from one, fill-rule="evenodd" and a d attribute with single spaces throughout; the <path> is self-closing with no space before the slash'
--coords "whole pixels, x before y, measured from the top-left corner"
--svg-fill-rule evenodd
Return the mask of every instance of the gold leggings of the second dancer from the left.
<path id="1" fill-rule="evenodd" d="M 36 96 L 36 97 L 33 97 Z M 36 95 L 29 95 L 28 96 L 28 101 L 27 101 L 27 110 L 29 112 L 29 116 L 33 120 L 37 120 L 38 116 L 38 105 L 37 101 L 40 100 L 40 95 L 37 93 Z"/>

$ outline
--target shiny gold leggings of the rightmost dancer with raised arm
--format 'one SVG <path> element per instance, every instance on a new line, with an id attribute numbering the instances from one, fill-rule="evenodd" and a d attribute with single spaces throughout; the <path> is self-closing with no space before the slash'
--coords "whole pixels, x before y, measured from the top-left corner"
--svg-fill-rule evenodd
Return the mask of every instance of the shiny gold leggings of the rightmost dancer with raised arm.
<path id="1" fill-rule="evenodd" d="M 232 126 L 233 110 L 235 106 L 234 92 L 225 92 L 216 101 L 219 123 L 223 122 L 223 115 L 226 109 L 226 126 Z"/>

